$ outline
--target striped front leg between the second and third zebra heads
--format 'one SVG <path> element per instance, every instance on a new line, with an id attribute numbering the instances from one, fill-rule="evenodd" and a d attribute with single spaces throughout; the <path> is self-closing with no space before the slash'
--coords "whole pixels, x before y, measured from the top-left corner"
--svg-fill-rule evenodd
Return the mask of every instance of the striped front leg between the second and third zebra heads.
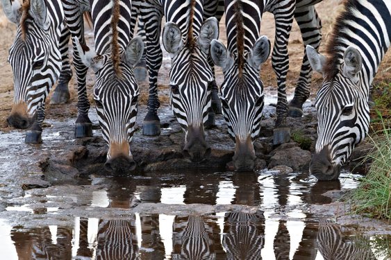
<path id="1" fill-rule="evenodd" d="M 159 42 L 163 12 L 156 8 L 156 6 L 143 6 L 140 8 L 140 16 L 145 22 L 144 29 L 147 35 L 146 63 L 149 71 L 148 112 L 144 118 L 142 135 L 154 136 L 160 135 L 160 119 L 157 111 L 158 107 L 160 107 L 158 98 L 158 71 L 163 61 L 163 51 L 160 48 Z"/>

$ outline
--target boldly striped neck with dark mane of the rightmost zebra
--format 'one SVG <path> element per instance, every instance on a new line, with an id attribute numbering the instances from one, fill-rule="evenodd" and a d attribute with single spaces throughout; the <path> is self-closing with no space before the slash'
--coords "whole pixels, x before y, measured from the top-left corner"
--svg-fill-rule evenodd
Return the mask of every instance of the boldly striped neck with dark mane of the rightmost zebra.
<path id="1" fill-rule="evenodd" d="M 353 46 L 363 57 L 360 83 L 369 94 L 369 85 L 376 76 L 391 39 L 390 0 L 348 0 L 333 28 L 327 46 L 331 53 L 326 74 L 333 77 L 343 62 L 344 51 Z"/>

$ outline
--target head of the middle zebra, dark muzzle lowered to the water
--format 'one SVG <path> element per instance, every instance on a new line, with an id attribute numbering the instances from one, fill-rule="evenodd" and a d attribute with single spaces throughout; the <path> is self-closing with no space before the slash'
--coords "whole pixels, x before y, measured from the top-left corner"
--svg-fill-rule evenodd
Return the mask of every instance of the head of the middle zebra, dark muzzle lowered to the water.
<path id="1" fill-rule="evenodd" d="M 208 64 L 210 41 L 217 39 L 219 26 L 215 17 L 203 22 L 199 36 L 183 41 L 180 28 L 165 24 L 163 45 L 172 58 L 169 72 L 172 110 L 185 132 L 183 153 L 194 162 L 210 155 L 203 123 L 208 120 L 213 72 Z M 191 36 L 192 37 L 192 36 Z"/>

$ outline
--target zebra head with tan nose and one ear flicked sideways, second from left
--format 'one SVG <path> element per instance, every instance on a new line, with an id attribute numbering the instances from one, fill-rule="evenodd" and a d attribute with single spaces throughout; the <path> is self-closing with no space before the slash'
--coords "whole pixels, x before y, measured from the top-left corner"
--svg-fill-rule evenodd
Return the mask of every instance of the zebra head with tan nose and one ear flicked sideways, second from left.
<path id="1" fill-rule="evenodd" d="M 97 54 L 82 46 L 75 37 L 83 63 L 91 67 L 97 80 L 94 101 L 103 139 L 108 144 L 105 167 L 115 173 L 133 171 L 136 163 L 131 154 L 131 140 L 138 110 L 138 83 L 133 74 L 144 50 L 141 37 L 134 37 L 122 50 L 119 64 L 115 65 L 110 51 Z"/>

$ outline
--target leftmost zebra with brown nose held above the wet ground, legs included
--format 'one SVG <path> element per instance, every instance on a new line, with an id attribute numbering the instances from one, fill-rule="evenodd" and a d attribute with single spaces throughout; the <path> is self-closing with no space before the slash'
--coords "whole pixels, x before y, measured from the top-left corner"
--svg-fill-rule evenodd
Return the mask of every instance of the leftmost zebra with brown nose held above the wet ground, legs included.
<path id="1" fill-rule="evenodd" d="M 15 128 L 28 128 L 26 143 L 42 142 L 44 102 L 57 79 L 59 84 L 56 94 L 53 94 L 53 103 L 60 103 L 69 95 L 67 84 L 72 71 L 67 57 L 68 42 L 70 34 L 84 42 L 82 14 L 89 8 L 85 1 L 26 0 L 22 6 L 19 1 L 1 1 L 6 17 L 17 24 L 17 35 L 8 58 L 13 67 L 15 96 L 7 121 Z M 92 135 L 92 123 L 88 119 L 90 105 L 85 89 L 87 68 L 80 62 L 75 51 L 74 65 L 78 78 L 75 137 L 87 137 Z"/>

